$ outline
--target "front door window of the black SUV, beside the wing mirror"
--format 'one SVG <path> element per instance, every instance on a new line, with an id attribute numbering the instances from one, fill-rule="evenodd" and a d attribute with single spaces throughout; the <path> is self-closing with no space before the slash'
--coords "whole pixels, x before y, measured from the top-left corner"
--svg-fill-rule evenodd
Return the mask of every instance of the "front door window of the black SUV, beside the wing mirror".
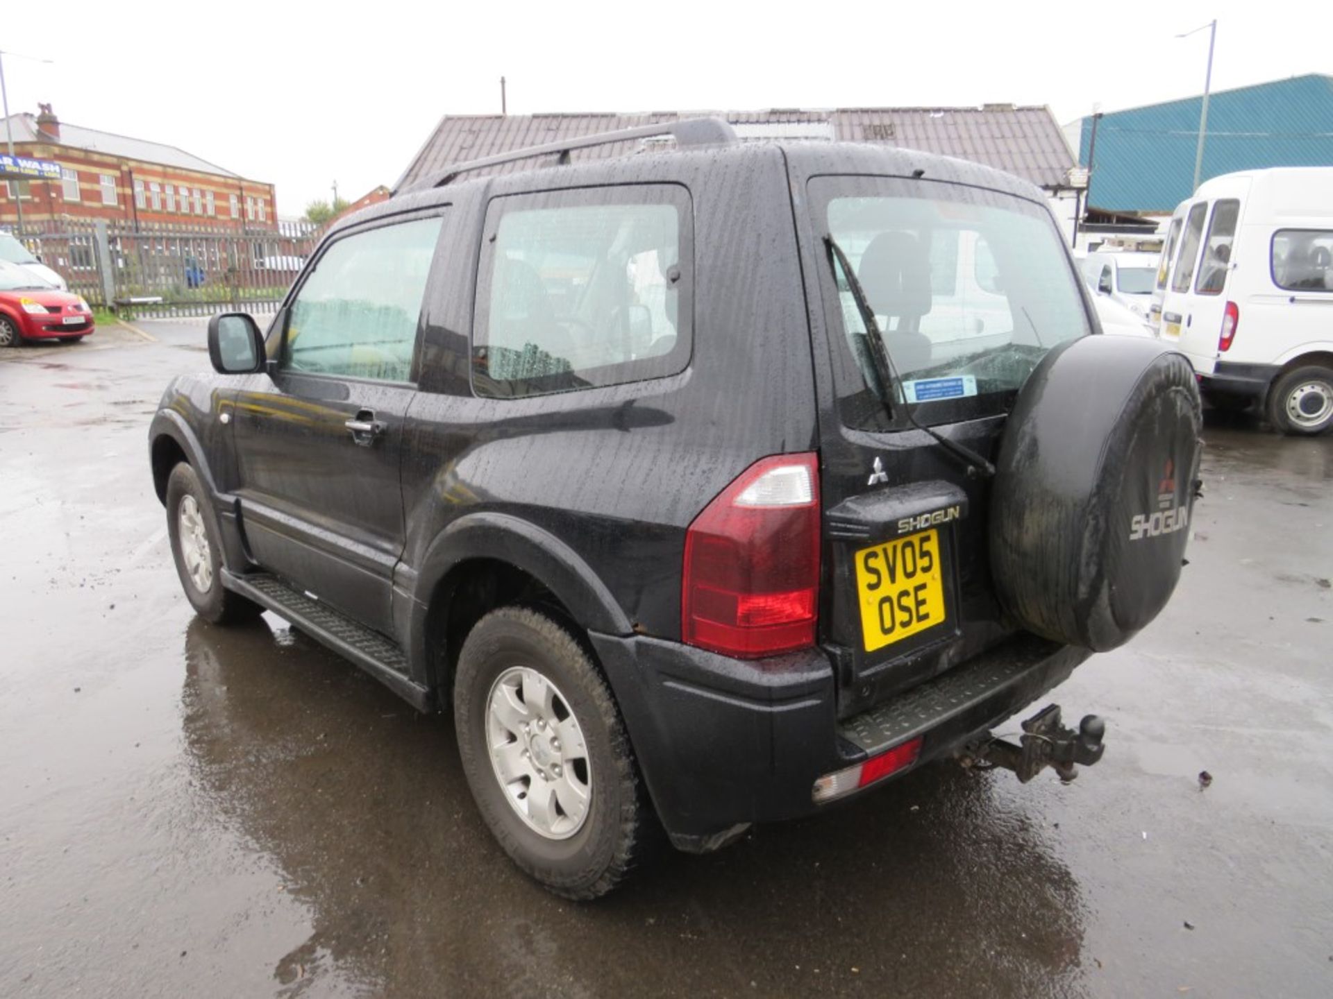
<path id="1" fill-rule="evenodd" d="M 281 366 L 407 381 L 440 222 L 385 225 L 331 245 L 291 305 Z"/>

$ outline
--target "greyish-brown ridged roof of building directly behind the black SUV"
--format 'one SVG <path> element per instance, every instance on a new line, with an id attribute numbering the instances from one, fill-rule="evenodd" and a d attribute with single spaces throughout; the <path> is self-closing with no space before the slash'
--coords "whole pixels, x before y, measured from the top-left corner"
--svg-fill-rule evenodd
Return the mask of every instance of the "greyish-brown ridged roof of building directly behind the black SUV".
<path id="1" fill-rule="evenodd" d="M 834 111 L 659 111 L 636 115 L 445 115 L 399 180 L 405 188 L 444 166 L 484 156 L 688 117 L 725 117 L 742 139 L 837 139 L 956 156 L 1016 173 L 1044 188 L 1065 184 L 1073 155 L 1048 108 L 986 104 L 980 108 L 838 108 Z M 637 144 L 579 151 L 604 159 Z M 531 161 L 496 172 L 528 169 Z"/>

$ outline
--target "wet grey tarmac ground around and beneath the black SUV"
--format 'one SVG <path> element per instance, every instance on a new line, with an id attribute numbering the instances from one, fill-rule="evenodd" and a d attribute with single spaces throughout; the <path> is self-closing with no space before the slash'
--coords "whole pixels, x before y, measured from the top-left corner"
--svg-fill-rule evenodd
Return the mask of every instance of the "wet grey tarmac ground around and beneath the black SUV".
<path id="1" fill-rule="evenodd" d="M 204 328 L 139 326 L 0 358 L 0 995 L 1333 994 L 1333 438 L 1209 416 L 1173 603 L 1054 694 L 1074 783 L 938 765 L 576 906 L 445 718 L 193 618 L 145 430 Z"/>

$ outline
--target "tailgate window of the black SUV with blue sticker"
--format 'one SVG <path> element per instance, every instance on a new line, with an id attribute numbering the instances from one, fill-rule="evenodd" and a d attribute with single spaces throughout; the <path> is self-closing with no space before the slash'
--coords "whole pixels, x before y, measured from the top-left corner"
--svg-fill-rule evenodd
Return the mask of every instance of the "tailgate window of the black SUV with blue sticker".
<path id="1" fill-rule="evenodd" d="M 922 180 L 817 177 L 810 189 L 818 234 L 837 241 L 874 312 L 897 410 L 910 405 L 921 422 L 1005 412 L 1052 346 L 1090 332 L 1044 205 Z M 870 332 L 850 282 L 836 260 L 822 272 L 836 281 L 849 374 L 873 396 Z M 844 420 L 881 422 L 884 401 L 872 402 L 844 408 Z"/>

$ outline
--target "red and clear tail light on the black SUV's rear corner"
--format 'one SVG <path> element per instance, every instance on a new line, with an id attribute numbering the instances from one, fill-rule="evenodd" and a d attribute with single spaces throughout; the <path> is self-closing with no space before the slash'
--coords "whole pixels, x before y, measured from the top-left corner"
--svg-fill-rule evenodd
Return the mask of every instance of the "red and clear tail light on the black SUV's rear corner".
<path id="1" fill-rule="evenodd" d="M 817 456 L 760 458 L 685 533 L 681 638 L 740 659 L 805 649 L 818 595 Z"/>

